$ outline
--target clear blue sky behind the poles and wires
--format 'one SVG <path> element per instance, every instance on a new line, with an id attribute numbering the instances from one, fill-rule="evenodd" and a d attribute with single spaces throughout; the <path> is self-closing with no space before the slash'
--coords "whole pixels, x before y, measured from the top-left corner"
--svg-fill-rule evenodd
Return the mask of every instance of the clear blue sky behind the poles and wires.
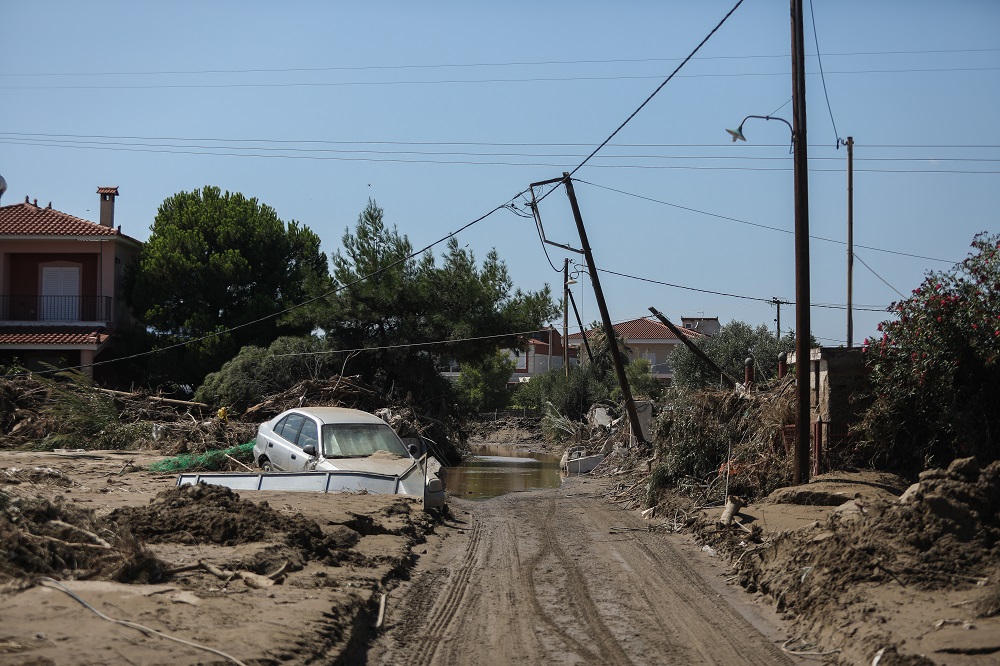
<path id="1" fill-rule="evenodd" d="M 3 203 L 96 220 L 97 187 L 117 185 L 116 223 L 145 240 L 164 199 L 216 185 L 332 253 L 371 197 L 423 247 L 571 171 L 734 2 L 2 2 Z M 897 291 L 1000 228 L 1000 3 L 805 4 L 813 332 L 846 340 L 836 145 L 853 136 L 858 344 Z M 773 328 L 766 301 L 794 299 L 789 131 L 725 132 L 791 120 L 789 44 L 788 3 L 746 0 L 576 173 L 598 267 L 643 278 L 602 274 L 615 321 L 654 306 Z M 579 245 L 562 192 L 541 214 Z M 501 211 L 459 240 L 561 291 L 549 262 L 568 255 L 532 220 Z"/>

